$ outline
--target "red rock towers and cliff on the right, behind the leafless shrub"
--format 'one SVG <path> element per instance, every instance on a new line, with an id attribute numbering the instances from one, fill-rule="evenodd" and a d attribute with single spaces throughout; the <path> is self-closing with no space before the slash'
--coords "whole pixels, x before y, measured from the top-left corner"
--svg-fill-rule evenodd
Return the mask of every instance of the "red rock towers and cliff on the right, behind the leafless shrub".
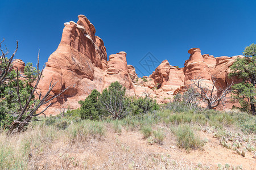
<path id="1" fill-rule="evenodd" d="M 228 74 L 230 73 L 229 67 L 237 57 L 242 56 L 217 58 L 209 54 L 202 56 L 199 48 L 192 48 L 188 53 L 191 56 L 185 61 L 183 69 L 171 66 L 167 60 L 164 60 L 150 75 L 155 83 L 160 84 L 158 89 L 154 90 L 155 98 L 159 103 L 166 103 L 168 98 L 172 100 L 174 95 L 183 93 L 189 84 L 193 84 L 193 79 L 203 79 L 202 86 L 209 88 L 213 86 L 213 79 L 216 80 L 215 90 L 218 92 L 232 83 L 241 81 L 237 78 L 230 79 Z M 226 106 L 219 106 L 217 109 L 230 109 L 233 105 L 238 106 L 237 103 L 232 102 L 230 95 L 226 97 L 226 100 Z"/>

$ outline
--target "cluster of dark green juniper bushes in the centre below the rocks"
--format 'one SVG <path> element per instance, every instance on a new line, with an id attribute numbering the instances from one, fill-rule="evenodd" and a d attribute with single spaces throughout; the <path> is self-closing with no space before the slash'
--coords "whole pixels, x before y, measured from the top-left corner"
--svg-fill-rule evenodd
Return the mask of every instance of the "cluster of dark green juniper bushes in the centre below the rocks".
<path id="1" fill-rule="evenodd" d="M 81 107 L 76 112 L 80 113 L 83 120 L 99 120 L 106 117 L 112 117 L 115 120 L 122 119 L 128 114 L 145 114 L 160 109 L 151 97 L 136 99 L 126 96 L 126 88 L 118 82 L 111 83 L 102 91 L 102 94 L 93 90 L 84 101 L 79 101 L 79 104 Z"/>

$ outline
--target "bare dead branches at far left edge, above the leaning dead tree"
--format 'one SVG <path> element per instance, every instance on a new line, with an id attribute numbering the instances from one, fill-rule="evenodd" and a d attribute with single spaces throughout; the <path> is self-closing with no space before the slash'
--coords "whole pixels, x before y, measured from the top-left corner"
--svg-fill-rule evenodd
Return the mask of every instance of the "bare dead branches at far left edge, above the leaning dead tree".
<path id="1" fill-rule="evenodd" d="M 3 39 L 3 41 L 5 41 L 5 39 Z M 2 42 L 3 42 L 2 41 Z M 11 63 L 13 62 L 13 58 L 18 50 L 18 41 L 16 41 L 16 50 L 14 51 L 14 53 L 11 55 L 11 57 L 8 59 L 6 56 L 9 53 L 9 50 L 6 48 L 6 53 L 3 52 L 3 50 L 1 49 L 1 45 L 2 42 L 0 42 L 0 50 L 1 50 L 1 57 L 0 57 L 0 86 L 1 84 L 6 80 L 6 76 L 9 73 L 10 69 L 11 69 Z"/>

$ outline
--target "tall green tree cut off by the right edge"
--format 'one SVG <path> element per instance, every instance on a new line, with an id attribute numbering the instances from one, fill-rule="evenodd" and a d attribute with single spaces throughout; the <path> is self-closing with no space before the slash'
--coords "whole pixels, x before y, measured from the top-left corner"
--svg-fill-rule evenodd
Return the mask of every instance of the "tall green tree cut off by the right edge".
<path id="1" fill-rule="evenodd" d="M 250 111 L 256 115 L 256 44 L 246 46 L 244 58 L 237 58 L 230 66 L 230 77 L 237 76 L 241 83 L 233 85 L 234 98 L 237 99 L 243 111 Z"/>

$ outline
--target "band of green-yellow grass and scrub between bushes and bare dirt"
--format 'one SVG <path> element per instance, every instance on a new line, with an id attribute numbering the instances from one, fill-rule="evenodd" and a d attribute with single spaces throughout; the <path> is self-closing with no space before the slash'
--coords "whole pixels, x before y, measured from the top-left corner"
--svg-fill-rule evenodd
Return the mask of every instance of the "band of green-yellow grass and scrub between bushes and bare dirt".
<path id="1" fill-rule="evenodd" d="M 127 114 L 119 120 L 113 120 L 112 117 L 84 120 L 79 110 L 68 110 L 62 115 L 39 118 L 41 121 L 33 121 L 28 125 L 27 130 L 19 135 L 18 140 L 14 140 L 15 135 L 7 137 L 5 133 L 0 133 L 0 169 L 28 169 L 28 164 L 31 163 L 27 161 L 30 154 L 33 158 L 39 156 L 49 150 L 56 140 L 61 139 L 72 145 L 81 145 L 81 142 L 90 140 L 104 141 L 106 131 L 110 133 L 111 128 L 113 133 L 118 135 L 123 131 L 140 131 L 144 137 L 142 140 L 151 145 L 164 145 L 166 140 L 170 140 L 170 136 L 167 139 L 167 135 L 171 133 L 175 136 L 176 145 L 187 151 L 203 148 L 203 141 L 196 131 L 206 130 L 212 131 L 221 145 L 224 143 L 222 146 L 236 148 L 241 155 L 243 147 L 247 152 L 255 151 L 255 147 L 249 145 L 253 143 L 254 138 L 247 137 L 245 134 L 255 134 L 256 118 L 237 110 L 219 112 L 190 109 L 176 102 L 165 105 L 158 111 Z M 231 127 L 245 134 L 230 133 L 226 130 Z M 240 142 L 236 142 L 236 138 Z M 229 141 L 233 142 L 229 143 Z M 241 141 L 247 141 L 247 143 L 242 146 Z"/>

